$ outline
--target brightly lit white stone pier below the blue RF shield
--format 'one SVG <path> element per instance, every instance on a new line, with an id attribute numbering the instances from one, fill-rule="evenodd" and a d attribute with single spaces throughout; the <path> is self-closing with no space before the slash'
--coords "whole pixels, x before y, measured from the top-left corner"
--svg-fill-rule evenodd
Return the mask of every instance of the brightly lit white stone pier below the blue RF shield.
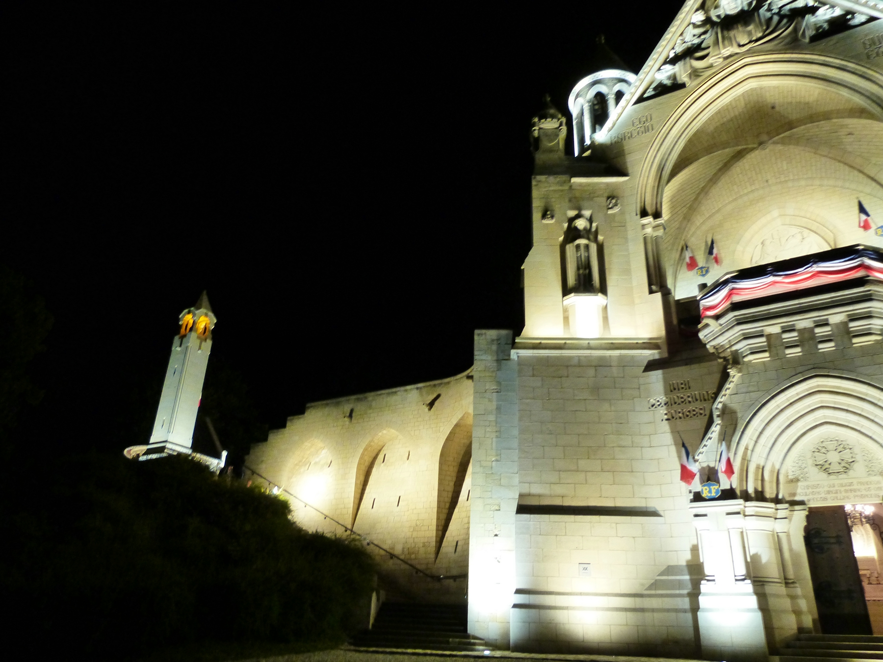
<path id="1" fill-rule="evenodd" d="M 702 657 L 728 662 L 766 662 L 764 622 L 746 576 L 743 500 L 690 504 L 706 577 L 700 584 Z"/>

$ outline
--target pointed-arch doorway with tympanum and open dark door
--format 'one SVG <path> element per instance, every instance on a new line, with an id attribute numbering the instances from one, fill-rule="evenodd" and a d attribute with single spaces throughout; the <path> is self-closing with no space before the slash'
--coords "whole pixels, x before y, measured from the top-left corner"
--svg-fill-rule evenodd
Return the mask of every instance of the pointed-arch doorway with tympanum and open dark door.
<path id="1" fill-rule="evenodd" d="M 736 431 L 737 483 L 756 500 L 810 507 L 804 539 L 819 626 L 870 635 L 868 606 L 878 611 L 883 597 L 865 588 L 879 581 L 868 537 L 883 515 L 874 506 L 883 500 L 883 387 L 815 369 L 759 402 Z M 857 503 L 867 506 L 861 514 Z"/>

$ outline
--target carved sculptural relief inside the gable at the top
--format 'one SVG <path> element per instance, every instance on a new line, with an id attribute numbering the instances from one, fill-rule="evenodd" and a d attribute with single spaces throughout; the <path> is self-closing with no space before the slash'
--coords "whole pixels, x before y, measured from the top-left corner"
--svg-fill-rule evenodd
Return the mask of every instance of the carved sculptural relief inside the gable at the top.
<path id="1" fill-rule="evenodd" d="M 812 41 L 872 20 L 814 0 L 705 0 L 645 97 L 690 85 L 725 59 L 770 41 Z"/>

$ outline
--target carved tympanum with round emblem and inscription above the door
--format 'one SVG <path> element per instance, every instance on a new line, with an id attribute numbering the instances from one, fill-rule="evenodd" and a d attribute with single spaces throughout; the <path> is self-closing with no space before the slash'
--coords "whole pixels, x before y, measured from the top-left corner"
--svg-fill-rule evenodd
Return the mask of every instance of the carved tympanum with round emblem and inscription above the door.
<path id="1" fill-rule="evenodd" d="M 811 506 L 877 502 L 883 497 L 883 452 L 872 444 L 826 436 L 807 440 L 782 472 L 787 500 Z"/>

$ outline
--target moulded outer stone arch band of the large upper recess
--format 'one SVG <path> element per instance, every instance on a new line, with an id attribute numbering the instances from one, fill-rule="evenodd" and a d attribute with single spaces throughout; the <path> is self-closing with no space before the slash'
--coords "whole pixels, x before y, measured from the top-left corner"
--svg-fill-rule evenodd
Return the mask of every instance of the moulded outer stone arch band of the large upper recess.
<path id="1" fill-rule="evenodd" d="M 702 81 L 662 125 L 638 177 L 638 215 L 660 216 L 663 192 L 675 165 L 677 169 L 689 165 L 681 158 L 683 149 L 706 121 L 753 87 L 795 85 L 840 95 L 852 106 L 843 111 L 846 116 L 883 118 L 883 79 L 861 64 L 811 53 L 745 56 Z M 795 126 L 812 121 L 812 117 L 802 118 Z M 785 122 L 779 132 L 795 126 Z"/>

